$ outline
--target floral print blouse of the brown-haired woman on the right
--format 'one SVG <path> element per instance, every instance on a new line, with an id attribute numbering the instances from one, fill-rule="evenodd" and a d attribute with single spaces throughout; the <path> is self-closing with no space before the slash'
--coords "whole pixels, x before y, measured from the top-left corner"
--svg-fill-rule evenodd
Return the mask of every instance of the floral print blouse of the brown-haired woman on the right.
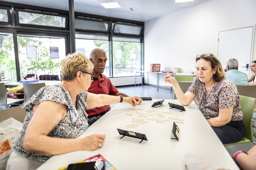
<path id="1" fill-rule="evenodd" d="M 218 117 L 220 108 L 232 106 L 234 108 L 231 120 L 241 121 L 244 119 L 237 87 L 227 78 L 216 82 L 210 91 L 206 91 L 205 84 L 196 78 L 188 88 L 188 92 L 196 95 L 199 109 L 207 120 Z"/>

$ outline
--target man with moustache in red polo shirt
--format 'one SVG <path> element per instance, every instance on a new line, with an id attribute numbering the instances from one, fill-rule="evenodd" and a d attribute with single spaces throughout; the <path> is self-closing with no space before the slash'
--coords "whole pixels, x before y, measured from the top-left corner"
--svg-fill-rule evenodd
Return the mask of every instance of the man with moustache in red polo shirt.
<path id="1" fill-rule="evenodd" d="M 108 95 L 114 95 L 114 96 L 129 97 L 126 94 L 120 93 L 116 89 L 116 87 L 110 82 L 110 79 L 107 78 L 104 74 L 102 74 L 104 72 L 106 61 L 107 61 L 106 52 L 104 50 L 100 48 L 95 48 L 93 51 L 91 51 L 90 61 L 94 65 L 93 74 L 95 74 L 95 77 L 93 79 L 93 82 L 91 82 L 91 86 L 87 90 L 88 92 L 91 92 L 94 94 L 108 94 Z M 137 104 L 142 103 L 142 99 L 140 97 L 135 96 L 134 98 L 137 100 Z M 86 113 L 88 114 L 88 119 L 89 119 L 88 121 L 89 126 L 91 126 L 91 124 L 96 122 L 96 120 L 101 118 L 101 116 L 103 116 L 109 110 L 110 110 L 110 105 L 96 107 L 91 110 L 86 110 Z"/>

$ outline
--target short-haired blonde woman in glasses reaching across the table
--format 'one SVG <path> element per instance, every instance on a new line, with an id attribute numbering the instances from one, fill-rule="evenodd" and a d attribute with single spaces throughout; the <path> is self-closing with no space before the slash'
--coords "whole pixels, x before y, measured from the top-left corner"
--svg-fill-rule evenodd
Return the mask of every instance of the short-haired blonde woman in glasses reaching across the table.
<path id="1" fill-rule="evenodd" d="M 22 107 L 27 115 L 7 170 L 37 169 L 55 154 L 103 146 L 105 135 L 76 139 L 88 127 L 85 110 L 121 101 L 136 106 L 136 100 L 86 92 L 94 78 L 92 72 L 93 64 L 85 56 L 68 55 L 62 62 L 63 82 L 41 88 Z"/>

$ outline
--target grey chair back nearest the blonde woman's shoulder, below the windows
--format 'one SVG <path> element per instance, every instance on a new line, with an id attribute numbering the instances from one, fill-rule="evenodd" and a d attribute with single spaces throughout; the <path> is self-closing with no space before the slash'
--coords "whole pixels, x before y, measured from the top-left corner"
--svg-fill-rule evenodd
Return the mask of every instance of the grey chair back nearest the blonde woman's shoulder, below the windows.
<path id="1" fill-rule="evenodd" d="M 23 83 L 25 95 L 24 95 L 24 102 L 28 102 L 29 99 L 40 90 L 42 87 L 45 87 L 45 83 Z"/>

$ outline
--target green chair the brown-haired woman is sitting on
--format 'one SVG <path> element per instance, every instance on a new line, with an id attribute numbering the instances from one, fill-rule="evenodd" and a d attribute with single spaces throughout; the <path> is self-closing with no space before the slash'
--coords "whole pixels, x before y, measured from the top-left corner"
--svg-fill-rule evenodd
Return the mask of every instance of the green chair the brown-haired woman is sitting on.
<path id="1" fill-rule="evenodd" d="M 244 127 L 245 127 L 245 137 L 242 139 L 240 142 L 236 143 L 228 143 L 224 144 L 224 146 L 229 146 L 229 145 L 236 145 L 240 143 L 246 143 L 246 142 L 253 142 L 255 145 L 255 142 L 253 141 L 253 130 L 252 130 L 252 114 L 253 114 L 253 108 L 255 104 L 255 98 L 250 98 L 247 96 L 240 96 L 241 100 L 241 108 L 242 112 L 244 114 Z"/>

